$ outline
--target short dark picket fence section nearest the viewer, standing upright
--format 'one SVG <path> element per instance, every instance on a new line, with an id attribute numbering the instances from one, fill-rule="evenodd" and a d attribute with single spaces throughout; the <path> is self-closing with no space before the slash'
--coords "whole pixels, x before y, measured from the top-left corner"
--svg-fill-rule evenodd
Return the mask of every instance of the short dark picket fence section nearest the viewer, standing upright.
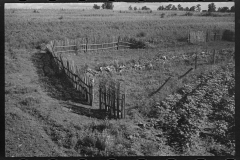
<path id="1" fill-rule="evenodd" d="M 125 91 L 121 92 L 120 82 L 101 81 L 99 84 L 99 108 L 109 117 L 125 118 Z"/>

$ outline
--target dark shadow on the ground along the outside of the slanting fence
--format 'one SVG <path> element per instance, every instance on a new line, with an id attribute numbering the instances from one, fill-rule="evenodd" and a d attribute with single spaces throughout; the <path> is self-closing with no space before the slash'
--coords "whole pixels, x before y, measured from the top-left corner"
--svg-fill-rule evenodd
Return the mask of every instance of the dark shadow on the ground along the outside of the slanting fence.
<path id="1" fill-rule="evenodd" d="M 81 96 L 81 93 L 73 88 L 63 73 L 55 73 L 53 71 L 47 52 L 38 51 L 33 54 L 31 60 L 37 70 L 41 87 L 45 89 L 50 97 L 65 101 L 66 107 L 70 108 L 72 112 L 76 114 L 100 119 L 105 117 L 104 113 L 98 109 L 84 107 L 84 105 L 87 105 L 87 102 L 84 97 Z M 47 72 L 45 68 L 51 71 Z M 79 105 L 68 103 L 69 101 Z"/>

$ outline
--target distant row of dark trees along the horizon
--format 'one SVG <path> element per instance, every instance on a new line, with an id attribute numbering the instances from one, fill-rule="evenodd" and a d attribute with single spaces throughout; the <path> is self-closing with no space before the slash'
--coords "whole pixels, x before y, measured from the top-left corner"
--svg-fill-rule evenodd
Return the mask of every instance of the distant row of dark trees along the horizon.
<path id="1" fill-rule="evenodd" d="M 100 9 L 102 7 L 102 9 L 113 9 L 114 5 L 113 2 L 104 2 L 102 4 L 102 6 L 98 6 L 96 4 L 93 5 L 94 9 Z M 128 7 L 128 10 L 151 10 L 150 8 L 148 8 L 147 6 L 143 6 L 142 8 L 137 8 L 132 7 L 131 5 Z M 196 6 L 192 6 L 192 7 L 182 7 L 180 4 L 178 4 L 177 6 L 173 5 L 173 4 L 169 4 L 167 6 L 159 6 L 157 8 L 157 10 L 179 10 L 179 11 L 197 11 L 200 12 L 201 11 L 201 5 L 197 4 Z M 211 3 L 208 5 L 208 10 L 203 10 L 203 11 L 208 11 L 208 12 L 235 12 L 235 6 L 232 6 L 231 8 L 229 7 L 219 7 L 218 9 L 216 9 L 216 5 L 214 3 Z"/>

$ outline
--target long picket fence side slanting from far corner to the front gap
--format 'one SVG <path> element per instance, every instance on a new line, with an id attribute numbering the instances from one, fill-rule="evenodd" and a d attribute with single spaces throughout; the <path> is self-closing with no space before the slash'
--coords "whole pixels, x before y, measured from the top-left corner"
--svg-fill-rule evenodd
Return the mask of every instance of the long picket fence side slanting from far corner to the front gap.
<path id="1" fill-rule="evenodd" d="M 85 104 L 92 105 L 93 102 L 93 79 L 86 73 L 82 73 L 74 61 L 64 58 L 55 51 L 54 41 L 47 45 L 51 56 L 51 65 L 57 73 L 66 75 L 70 83 L 80 93 L 80 98 Z"/>

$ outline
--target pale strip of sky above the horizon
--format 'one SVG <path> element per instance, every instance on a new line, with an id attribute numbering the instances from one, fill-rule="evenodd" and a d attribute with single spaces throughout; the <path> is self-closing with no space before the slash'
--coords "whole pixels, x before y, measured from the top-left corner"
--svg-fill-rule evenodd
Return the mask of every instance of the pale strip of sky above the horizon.
<path id="1" fill-rule="evenodd" d="M 181 4 L 182 7 L 191 7 L 196 6 L 197 4 L 201 5 L 202 10 L 208 9 L 208 4 L 211 2 L 173 2 L 173 3 L 164 3 L 164 2 L 152 2 L 152 3 L 128 3 L 128 2 L 114 2 L 113 10 L 128 10 L 128 7 L 131 5 L 132 7 L 141 8 L 143 6 L 147 6 L 152 10 L 157 10 L 159 6 L 167 6 L 168 4 L 173 4 L 177 7 L 178 4 Z M 18 8 L 18 9 L 91 9 L 94 4 L 99 6 L 102 3 L 5 3 L 5 8 Z M 231 8 L 234 5 L 234 2 L 214 2 L 216 8 L 218 7 L 229 7 Z"/>

